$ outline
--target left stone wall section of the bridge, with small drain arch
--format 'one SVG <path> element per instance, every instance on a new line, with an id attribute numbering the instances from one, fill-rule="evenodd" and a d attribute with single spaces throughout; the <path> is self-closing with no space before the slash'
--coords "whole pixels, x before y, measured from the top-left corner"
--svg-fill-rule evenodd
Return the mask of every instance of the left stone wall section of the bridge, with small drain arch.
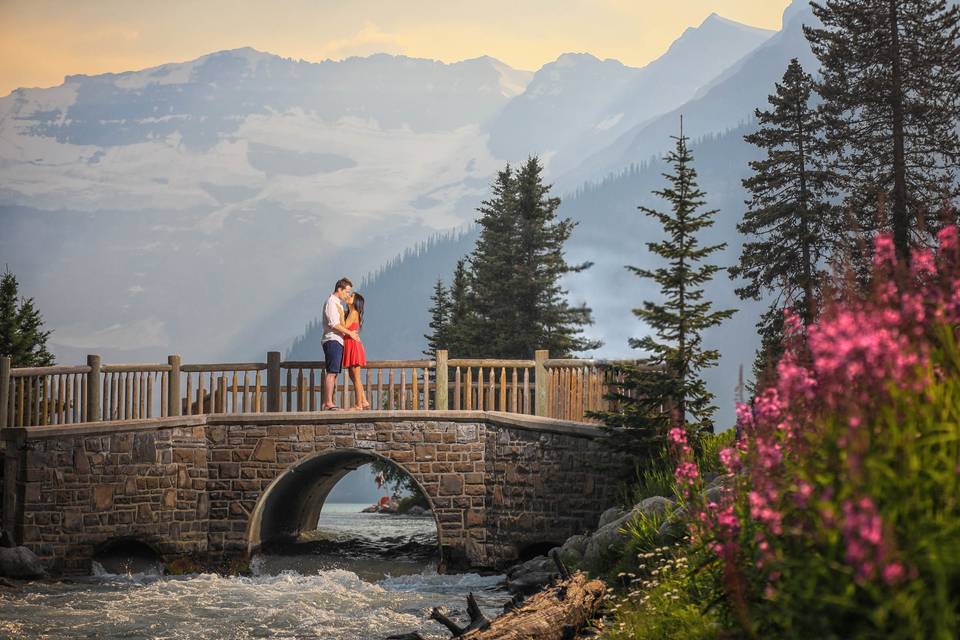
<path id="1" fill-rule="evenodd" d="M 55 572 L 133 538 L 165 557 L 207 548 L 203 427 L 35 440 L 23 456 L 22 543 Z"/>

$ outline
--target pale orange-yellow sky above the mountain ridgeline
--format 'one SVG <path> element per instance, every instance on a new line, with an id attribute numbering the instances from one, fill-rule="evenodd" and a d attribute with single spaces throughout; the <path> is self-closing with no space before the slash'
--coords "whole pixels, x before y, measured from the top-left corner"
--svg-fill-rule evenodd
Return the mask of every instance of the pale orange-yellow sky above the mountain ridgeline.
<path id="1" fill-rule="evenodd" d="M 711 13 L 778 29 L 789 0 L 0 0 L 0 96 L 250 46 L 320 61 L 372 53 L 534 71 L 565 52 L 643 66 Z"/>

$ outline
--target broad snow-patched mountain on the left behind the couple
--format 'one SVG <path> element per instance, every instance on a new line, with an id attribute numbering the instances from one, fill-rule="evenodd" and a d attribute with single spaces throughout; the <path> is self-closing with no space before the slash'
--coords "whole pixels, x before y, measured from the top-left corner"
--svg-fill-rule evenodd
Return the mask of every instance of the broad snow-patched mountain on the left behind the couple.
<path id="1" fill-rule="evenodd" d="M 531 75 L 238 49 L 19 89 L 0 98 L 0 253 L 65 360 L 214 357 L 305 282 L 470 221 L 500 166 L 480 124 Z"/>

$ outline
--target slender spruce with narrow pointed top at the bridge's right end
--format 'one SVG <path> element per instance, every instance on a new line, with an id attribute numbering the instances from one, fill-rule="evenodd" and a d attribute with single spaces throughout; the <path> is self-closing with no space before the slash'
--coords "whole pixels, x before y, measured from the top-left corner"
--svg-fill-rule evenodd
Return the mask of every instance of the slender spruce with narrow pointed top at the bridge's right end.
<path id="1" fill-rule="evenodd" d="M 715 366 L 719 353 L 703 347 L 702 334 L 735 313 L 733 309 L 714 311 L 712 303 L 704 300 L 703 286 L 720 270 L 704 260 L 726 245 L 701 245 L 697 239 L 699 231 L 713 225 L 717 211 L 698 211 L 705 194 L 697 186 L 682 119 L 680 135 L 673 139 L 676 147 L 665 158 L 673 168 L 672 174 L 664 174 L 669 186 L 654 192 L 669 204 L 669 211 L 638 207 L 663 227 L 666 239 L 648 242 L 647 247 L 666 265 L 654 270 L 627 267 L 660 286 L 662 303 L 644 301 L 633 310 L 655 335 L 630 340 L 631 347 L 649 355 L 640 365 L 617 367 L 622 382 L 608 397 L 618 408 L 596 414 L 606 423 L 614 446 L 640 456 L 659 451 L 672 426 L 683 425 L 694 436 L 712 431 L 714 396 L 707 391 L 701 371 Z M 671 411 L 663 410 L 665 402 Z"/>

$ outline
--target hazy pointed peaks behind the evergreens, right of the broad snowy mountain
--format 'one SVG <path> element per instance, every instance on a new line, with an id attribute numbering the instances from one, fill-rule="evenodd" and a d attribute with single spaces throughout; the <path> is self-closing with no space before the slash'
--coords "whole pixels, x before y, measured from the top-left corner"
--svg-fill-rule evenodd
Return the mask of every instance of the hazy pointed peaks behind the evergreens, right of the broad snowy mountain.
<path id="1" fill-rule="evenodd" d="M 714 13 L 643 68 L 564 54 L 537 71 L 491 123 L 490 148 L 510 160 L 539 154 L 551 175 L 563 174 L 633 127 L 690 100 L 772 35 Z"/>

